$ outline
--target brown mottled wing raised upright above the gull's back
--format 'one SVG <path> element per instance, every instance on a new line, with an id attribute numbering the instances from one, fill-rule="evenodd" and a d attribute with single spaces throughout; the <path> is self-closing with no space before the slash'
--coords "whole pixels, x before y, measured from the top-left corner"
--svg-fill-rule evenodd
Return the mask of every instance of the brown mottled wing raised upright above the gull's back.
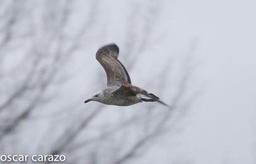
<path id="1" fill-rule="evenodd" d="M 131 79 L 124 65 L 117 59 L 119 48 L 116 44 L 108 44 L 101 47 L 96 53 L 96 59 L 100 62 L 107 74 L 107 85 L 114 83 L 129 83 Z"/>

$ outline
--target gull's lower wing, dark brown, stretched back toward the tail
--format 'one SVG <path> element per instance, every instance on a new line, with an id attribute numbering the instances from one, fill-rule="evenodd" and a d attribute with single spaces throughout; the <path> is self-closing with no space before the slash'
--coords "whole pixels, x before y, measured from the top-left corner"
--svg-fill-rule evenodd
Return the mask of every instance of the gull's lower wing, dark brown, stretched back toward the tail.
<path id="1" fill-rule="evenodd" d="M 146 90 L 141 89 L 137 86 L 128 84 L 128 83 L 122 84 L 119 89 L 112 91 L 111 94 L 114 94 L 116 96 L 134 96 L 137 94 L 142 94 L 142 95 L 145 95 L 147 98 L 150 98 L 154 101 L 160 102 L 161 104 L 163 104 L 165 106 L 169 106 L 169 105 L 165 104 L 163 101 L 159 100 L 159 98 L 157 96 L 155 96 L 154 94 L 147 93 Z"/>

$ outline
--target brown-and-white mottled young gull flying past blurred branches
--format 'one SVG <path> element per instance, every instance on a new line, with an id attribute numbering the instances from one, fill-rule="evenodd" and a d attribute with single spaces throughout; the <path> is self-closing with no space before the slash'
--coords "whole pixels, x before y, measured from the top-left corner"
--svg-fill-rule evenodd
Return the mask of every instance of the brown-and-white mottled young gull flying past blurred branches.
<path id="1" fill-rule="evenodd" d="M 96 59 L 107 74 L 107 88 L 97 91 L 90 99 L 85 100 L 85 103 L 98 101 L 107 105 L 129 106 L 143 101 L 157 101 L 169 106 L 154 94 L 132 85 L 125 66 L 117 59 L 118 56 L 119 48 L 114 43 L 104 45 L 97 50 Z"/>

